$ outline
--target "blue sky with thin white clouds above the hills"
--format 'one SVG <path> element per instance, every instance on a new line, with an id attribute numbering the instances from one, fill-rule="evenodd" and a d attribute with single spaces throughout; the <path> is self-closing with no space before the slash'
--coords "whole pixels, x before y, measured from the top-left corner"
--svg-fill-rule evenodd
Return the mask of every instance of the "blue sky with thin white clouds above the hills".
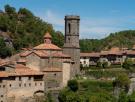
<path id="1" fill-rule="evenodd" d="M 101 39 L 110 33 L 135 29 L 135 0 L 0 0 L 31 10 L 64 33 L 65 15 L 79 15 L 80 38 Z"/>

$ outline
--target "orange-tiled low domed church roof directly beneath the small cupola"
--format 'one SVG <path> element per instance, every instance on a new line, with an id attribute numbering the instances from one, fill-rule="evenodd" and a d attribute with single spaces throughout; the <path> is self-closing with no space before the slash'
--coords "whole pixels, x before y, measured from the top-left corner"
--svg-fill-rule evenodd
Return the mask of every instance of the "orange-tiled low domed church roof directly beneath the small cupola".
<path id="1" fill-rule="evenodd" d="M 54 45 L 54 44 L 47 44 L 43 43 L 36 47 L 34 47 L 35 50 L 62 50 L 60 47 Z"/>

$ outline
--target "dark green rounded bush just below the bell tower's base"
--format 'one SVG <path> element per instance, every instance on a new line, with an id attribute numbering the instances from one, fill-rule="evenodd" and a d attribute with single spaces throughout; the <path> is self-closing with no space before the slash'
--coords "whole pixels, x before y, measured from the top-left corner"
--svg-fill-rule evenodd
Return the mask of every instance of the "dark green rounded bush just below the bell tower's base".
<path id="1" fill-rule="evenodd" d="M 70 88 L 70 90 L 76 92 L 78 90 L 78 87 L 79 87 L 77 80 L 69 80 L 68 87 Z"/>

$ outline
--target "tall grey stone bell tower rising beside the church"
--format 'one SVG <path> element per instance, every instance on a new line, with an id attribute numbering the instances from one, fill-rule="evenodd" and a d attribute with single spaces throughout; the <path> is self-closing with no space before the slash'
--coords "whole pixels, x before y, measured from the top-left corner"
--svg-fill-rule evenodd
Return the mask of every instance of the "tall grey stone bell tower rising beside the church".
<path id="1" fill-rule="evenodd" d="M 65 16 L 65 43 L 63 52 L 70 55 L 74 61 L 71 67 L 71 77 L 80 72 L 79 23 L 79 16 Z"/>

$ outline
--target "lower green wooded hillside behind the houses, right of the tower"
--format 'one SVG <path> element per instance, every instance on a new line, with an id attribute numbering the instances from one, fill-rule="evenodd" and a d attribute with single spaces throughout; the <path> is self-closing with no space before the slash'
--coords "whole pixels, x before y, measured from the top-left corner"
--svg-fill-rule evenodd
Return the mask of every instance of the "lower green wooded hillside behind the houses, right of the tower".
<path id="1" fill-rule="evenodd" d="M 126 30 L 111 33 L 103 39 L 81 39 L 80 46 L 82 52 L 92 52 L 107 50 L 111 47 L 132 48 L 135 44 L 135 30 Z"/>

